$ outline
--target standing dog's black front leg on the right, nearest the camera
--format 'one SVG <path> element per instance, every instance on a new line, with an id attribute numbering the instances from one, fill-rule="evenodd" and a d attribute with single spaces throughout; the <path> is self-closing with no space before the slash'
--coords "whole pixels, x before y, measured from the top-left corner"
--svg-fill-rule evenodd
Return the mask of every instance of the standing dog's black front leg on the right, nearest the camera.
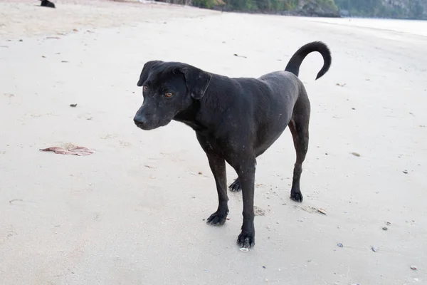
<path id="1" fill-rule="evenodd" d="M 243 165 L 236 167 L 238 179 L 241 182 L 243 196 L 243 224 L 242 232 L 238 235 L 237 243 L 240 247 L 255 245 L 255 227 L 253 225 L 253 192 L 255 187 L 255 157 L 247 159 Z"/>

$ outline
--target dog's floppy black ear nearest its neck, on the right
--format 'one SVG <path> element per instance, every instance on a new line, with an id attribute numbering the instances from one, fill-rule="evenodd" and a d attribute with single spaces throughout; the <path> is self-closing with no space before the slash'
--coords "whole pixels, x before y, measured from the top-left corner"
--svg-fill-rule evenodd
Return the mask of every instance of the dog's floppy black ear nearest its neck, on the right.
<path id="1" fill-rule="evenodd" d="M 209 86 L 209 82 L 211 82 L 212 76 L 206 71 L 193 66 L 179 68 L 179 71 L 184 73 L 186 86 L 189 89 L 191 97 L 196 100 L 202 98 Z"/>

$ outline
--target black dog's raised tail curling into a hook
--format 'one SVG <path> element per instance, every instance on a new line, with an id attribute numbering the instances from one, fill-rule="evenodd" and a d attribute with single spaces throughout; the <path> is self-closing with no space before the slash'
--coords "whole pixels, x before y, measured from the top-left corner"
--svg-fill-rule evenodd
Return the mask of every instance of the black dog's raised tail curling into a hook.
<path id="1" fill-rule="evenodd" d="M 317 73 L 316 80 L 324 76 L 331 66 L 332 57 L 329 48 L 325 45 L 325 43 L 322 43 L 321 41 L 313 41 L 312 43 L 307 43 L 306 45 L 298 49 L 297 52 L 292 56 L 292 58 L 290 58 L 290 61 L 288 62 L 288 65 L 285 68 L 285 71 L 292 72 L 295 74 L 295 76 L 298 76 L 298 74 L 300 73 L 300 66 L 302 61 L 309 53 L 312 53 L 313 51 L 319 52 L 323 57 L 323 67 L 322 69 L 320 69 L 319 73 Z"/>

